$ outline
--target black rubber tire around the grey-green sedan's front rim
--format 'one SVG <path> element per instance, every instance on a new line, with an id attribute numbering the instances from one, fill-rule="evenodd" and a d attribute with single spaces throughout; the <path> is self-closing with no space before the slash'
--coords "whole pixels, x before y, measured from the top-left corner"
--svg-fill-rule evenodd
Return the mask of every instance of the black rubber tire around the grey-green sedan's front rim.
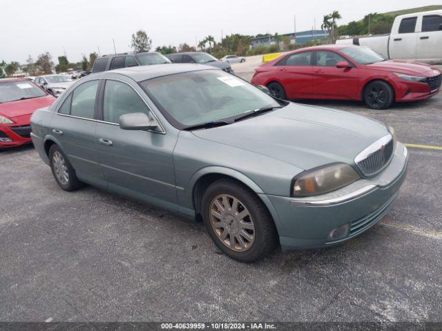
<path id="1" fill-rule="evenodd" d="M 224 242 L 231 242 L 231 237 L 235 238 L 235 236 L 230 236 L 229 234 L 229 239 L 227 239 L 226 237 L 223 242 L 222 239 L 218 237 L 220 236 L 220 234 L 217 234 L 214 230 L 215 228 L 217 228 L 216 225 L 212 225 L 213 217 L 211 219 L 211 212 L 213 205 L 215 205 L 213 201 L 215 201 L 223 194 L 227 195 L 228 197 L 230 196 L 231 198 L 238 199 L 238 205 L 243 206 L 244 208 L 241 209 L 240 207 L 238 207 L 236 208 L 236 211 L 240 213 L 240 210 L 244 211 L 245 209 L 245 211 L 248 212 L 249 216 L 242 219 L 242 221 L 247 219 L 246 223 L 250 224 L 249 222 L 251 222 L 254 226 L 253 230 L 247 230 L 249 231 L 249 235 L 253 236 L 253 242 L 249 245 L 249 248 L 244 248 L 245 251 L 236 251 L 230 248 L 227 243 Z M 233 201 L 233 199 L 231 201 Z M 231 204 L 233 206 L 233 202 L 231 201 L 229 201 L 229 205 Z M 234 213 L 232 212 L 232 210 L 226 211 L 226 214 L 229 214 L 230 216 L 226 216 L 224 217 L 224 219 L 231 217 L 231 215 Z M 262 203 L 262 201 L 259 199 L 259 197 L 256 196 L 256 194 L 251 192 L 251 190 L 244 187 L 244 185 L 238 183 L 237 181 L 233 181 L 231 179 L 219 179 L 218 181 L 213 182 L 203 194 L 201 213 L 206 230 L 207 232 L 209 232 L 209 235 L 215 245 L 217 245 L 218 248 L 222 252 L 224 252 L 224 254 L 231 257 L 232 259 L 244 263 L 255 262 L 265 257 L 276 248 L 276 245 L 278 245 L 278 235 L 276 232 L 275 224 L 273 223 L 273 219 L 269 211 L 265 207 L 264 203 Z M 217 218 L 215 217 L 215 219 Z M 222 223 L 225 225 L 217 228 L 217 230 L 220 232 L 226 231 L 226 228 L 224 228 L 224 226 L 229 226 L 227 225 L 229 221 L 222 221 L 221 219 L 219 219 L 219 221 L 220 222 L 218 223 Z M 230 225 L 232 222 L 235 221 L 231 221 Z M 239 225 L 239 223 L 236 224 Z M 239 233 L 241 230 L 244 229 L 241 229 L 240 227 L 237 233 Z M 236 237 L 238 237 L 238 235 L 236 235 Z M 244 242 L 244 239 L 241 240 Z M 240 247 L 240 241 L 238 241 L 237 239 L 233 239 L 233 241 L 238 247 Z"/>

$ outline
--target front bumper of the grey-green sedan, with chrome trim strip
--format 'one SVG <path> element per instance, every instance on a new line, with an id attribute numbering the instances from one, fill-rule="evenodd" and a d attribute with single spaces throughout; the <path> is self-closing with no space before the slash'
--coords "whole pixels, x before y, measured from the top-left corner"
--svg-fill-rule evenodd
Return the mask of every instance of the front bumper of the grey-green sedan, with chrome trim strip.
<path id="1" fill-rule="evenodd" d="M 321 248 L 365 232 L 383 218 L 405 180 L 407 148 L 397 143 L 389 165 L 375 177 L 316 197 L 295 199 L 267 195 L 276 212 L 282 250 Z M 332 230 L 345 225 L 345 237 L 330 240 Z"/>

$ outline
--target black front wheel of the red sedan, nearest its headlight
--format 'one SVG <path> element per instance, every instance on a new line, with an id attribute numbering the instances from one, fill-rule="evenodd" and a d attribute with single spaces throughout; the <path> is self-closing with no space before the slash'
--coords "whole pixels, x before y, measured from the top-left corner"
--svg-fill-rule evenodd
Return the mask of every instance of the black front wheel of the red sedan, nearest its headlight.
<path id="1" fill-rule="evenodd" d="M 394 91 L 386 81 L 372 81 L 365 86 L 363 98 L 368 108 L 387 109 L 394 101 Z"/>

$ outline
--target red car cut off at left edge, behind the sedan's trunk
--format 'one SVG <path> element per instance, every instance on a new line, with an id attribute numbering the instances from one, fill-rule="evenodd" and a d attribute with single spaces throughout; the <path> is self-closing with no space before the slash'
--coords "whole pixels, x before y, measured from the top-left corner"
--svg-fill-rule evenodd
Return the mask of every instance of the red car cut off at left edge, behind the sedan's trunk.
<path id="1" fill-rule="evenodd" d="M 55 97 L 26 79 L 0 79 L 0 150 L 30 142 L 30 116 Z"/>

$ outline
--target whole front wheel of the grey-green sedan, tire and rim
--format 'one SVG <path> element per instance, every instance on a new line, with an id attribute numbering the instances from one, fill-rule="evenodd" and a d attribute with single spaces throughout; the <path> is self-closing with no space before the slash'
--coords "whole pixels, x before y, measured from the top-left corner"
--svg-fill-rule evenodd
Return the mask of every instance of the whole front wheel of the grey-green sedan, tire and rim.
<path id="1" fill-rule="evenodd" d="M 204 192 L 202 217 L 215 245 L 241 262 L 262 259 L 278 242 L 273 219 L 262 201 L 230 179 L 215 181 Z"/>

